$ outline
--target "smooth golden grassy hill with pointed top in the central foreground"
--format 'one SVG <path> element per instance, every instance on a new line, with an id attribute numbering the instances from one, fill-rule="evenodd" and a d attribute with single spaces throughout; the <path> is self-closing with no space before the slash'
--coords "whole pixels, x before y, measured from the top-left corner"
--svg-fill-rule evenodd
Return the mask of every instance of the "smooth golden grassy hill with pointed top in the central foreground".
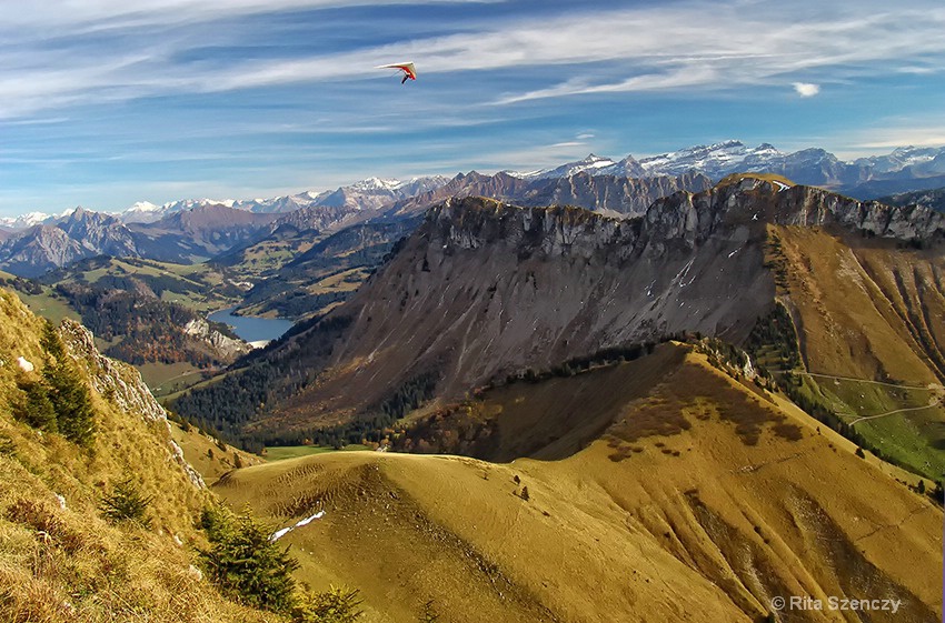
<path id="1" fill-rule="evenodd" d="M 903 600 L 873 622 L 941 617 L 943 516 L 928 498 L 704 356 L 654 356 L 650 391 L 646 376 L 594 371 L 556 380 L 557 402 L 545 383 L 486 394 L 479 424 L 499 438 L 515 423 L 496 413 L 530 418 L 534 439 L 561 419 L 595 422 L 588 439 L 538 451 L 557 460 L 331 453 L 239 470 L 216 491 L 280 525 L 324 508 L 285 539 L 315 587 L 359 586 L 368 621 L 432 609 L 465 622 L 754 622 L 789 595 Z M 577 391 L 604 398 L 569 402 Z"/>

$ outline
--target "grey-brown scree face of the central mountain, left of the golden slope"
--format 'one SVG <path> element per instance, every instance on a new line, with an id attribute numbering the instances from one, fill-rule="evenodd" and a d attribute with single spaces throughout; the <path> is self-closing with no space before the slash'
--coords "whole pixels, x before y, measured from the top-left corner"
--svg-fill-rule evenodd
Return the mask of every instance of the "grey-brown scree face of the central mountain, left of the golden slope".
<path id="1" fill-rule="evenodd" d="M 709 225 L 692 205 L 634 222 L 448 201 L 338 310 L 352 318 L 352 339 L 284 412 L 310 421 L 321 404 L 368 409 L 428 373 L 438 394 L 457 396 L 524 368 L 686 329 L 744 339 L 774 299 L 764 227 L 733 219 L 710 239 L 699 227 Z"/>

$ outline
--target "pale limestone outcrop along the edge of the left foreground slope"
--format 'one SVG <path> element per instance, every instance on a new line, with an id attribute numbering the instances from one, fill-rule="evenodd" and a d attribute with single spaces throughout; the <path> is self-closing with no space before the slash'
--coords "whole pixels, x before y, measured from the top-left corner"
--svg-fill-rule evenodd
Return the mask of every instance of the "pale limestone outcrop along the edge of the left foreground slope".
<path id="1" fill-rule="evenodd" d="M 190 482 L 200 489 L 206 484 L 200 474 L 185 459 L 183 451 L 170 436 L 167 412 L 151 394 L 151 390 L 141 379 L 141 373 L 131 365 L 105 356 L 96 348 L 92 332 L 71 320 L 63 320 L 59 328 L 66 348 L 89 373 L 94 390 L 110 400 L 126 413 L 167 426 L 167 445 L 170 459 L 180 465 Z"/>

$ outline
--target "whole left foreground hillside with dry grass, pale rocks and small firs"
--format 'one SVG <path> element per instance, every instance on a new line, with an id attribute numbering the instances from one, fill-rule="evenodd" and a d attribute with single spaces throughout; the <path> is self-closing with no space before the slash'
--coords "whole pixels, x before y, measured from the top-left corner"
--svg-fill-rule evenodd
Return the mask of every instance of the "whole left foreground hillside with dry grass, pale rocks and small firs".
<path id="1" fill-rule="evenodd" d="M 0 620 L 277 621 L 192 566 L 205 542 L 195 519 L 212 495 L 138 373 L 98 354 L 80 325 L 44 326 L 0 291 Z M 39 426 L 47 383 L 71 399 L 48 394 L 54 415 Z M 77 428 L 77 416 L 90 420 Z M 150 499 L 148 527 L 108 521 L 103 501 L 122 485 Z"/>

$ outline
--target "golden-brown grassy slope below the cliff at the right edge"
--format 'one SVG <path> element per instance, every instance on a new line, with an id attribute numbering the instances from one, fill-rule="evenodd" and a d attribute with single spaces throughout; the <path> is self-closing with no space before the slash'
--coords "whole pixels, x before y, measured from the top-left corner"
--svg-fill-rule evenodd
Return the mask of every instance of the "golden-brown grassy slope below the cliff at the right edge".
<path id="1" fill-rule="evenodd" d="M 936 402 L 945 297 L 937 275 L 945 261 L 933 251 L 895 249 L 885 241 L 844 243 L 808 228 L 777 228 L 776 234 L 785 255 L 784 293 L 796 311 L 807 369 L 838 376 L 808 378 L 809 393 L 848 423 L 932 404 L 855 428 L 889 458 L 941 476 L 945 409 Z"/>

